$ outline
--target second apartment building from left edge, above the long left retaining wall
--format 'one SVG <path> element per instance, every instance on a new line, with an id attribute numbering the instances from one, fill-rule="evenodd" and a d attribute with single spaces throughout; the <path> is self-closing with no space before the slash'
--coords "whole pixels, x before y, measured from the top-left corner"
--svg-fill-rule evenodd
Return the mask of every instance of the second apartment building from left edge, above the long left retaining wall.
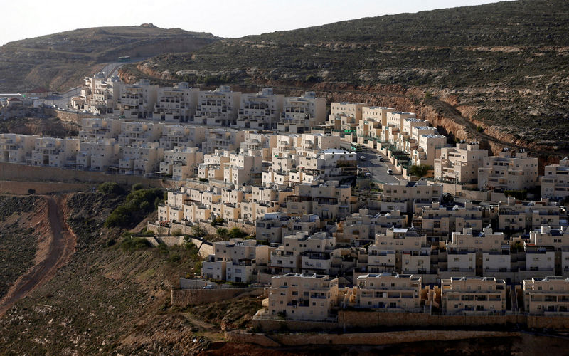
<path id="1" fill-rule="evenodd" d="M 75 167 L 79 139 L 41 137 L 31 152 L 33 166 Z"/>

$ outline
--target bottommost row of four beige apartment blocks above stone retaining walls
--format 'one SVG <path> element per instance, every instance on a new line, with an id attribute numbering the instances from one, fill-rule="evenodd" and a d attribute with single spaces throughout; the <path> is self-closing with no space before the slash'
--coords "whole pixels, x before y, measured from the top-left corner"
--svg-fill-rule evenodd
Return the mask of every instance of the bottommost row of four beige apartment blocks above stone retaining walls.
<path id="1" fill-rule="evenodd" d="M 569 278 L 528 278 L 512 290 L 520 291 L 520 307 L 525 313 L 569 313 Z M 368 273 L 358 276 L 352 288 L 341 288 L 338 278 L 287 273 L 271 278 L 264 310 L 255 318 L 326 321 L 334 320 L 341 308 L 406 313 L 436 309 L 450 315 L 498 315 L 508 310 L 506 298 L 506 282 L 494 277 L 452 277 L 431 288 L 423 286 L 422 278 L 413 274 Z"/>

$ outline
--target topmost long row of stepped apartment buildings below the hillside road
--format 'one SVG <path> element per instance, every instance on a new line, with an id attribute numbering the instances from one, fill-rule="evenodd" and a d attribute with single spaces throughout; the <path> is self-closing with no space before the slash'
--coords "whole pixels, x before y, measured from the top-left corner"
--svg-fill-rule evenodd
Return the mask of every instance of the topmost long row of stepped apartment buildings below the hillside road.
<path id="1" fill-rule="evenodd" d="M 104 73 L 84 81 L 80 95 L 71 100 L 73 108 L 127 119 L 303 133 L 321 125 L 326 117 L 325 100 L 312 92 L 285 97 L 271 88 L 240 93 L 228 85 L 216 90 L 191 88 L 185 82 L 159 87 L 147 79 L 134 84 L 123 83 L 116 75 L 107 79 Z"/>

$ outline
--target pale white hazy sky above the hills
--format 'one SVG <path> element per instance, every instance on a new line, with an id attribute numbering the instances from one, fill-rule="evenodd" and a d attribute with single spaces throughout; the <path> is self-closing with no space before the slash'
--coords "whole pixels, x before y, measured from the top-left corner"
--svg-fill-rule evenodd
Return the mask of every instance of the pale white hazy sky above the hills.
<path id="1" fill-rule="evenodd" d="M 492 0 L 28 0 L 0 1 L 0 45 L 98 26 L 163 28 L 242 37 L 369 16 L 478 5 Z"/>

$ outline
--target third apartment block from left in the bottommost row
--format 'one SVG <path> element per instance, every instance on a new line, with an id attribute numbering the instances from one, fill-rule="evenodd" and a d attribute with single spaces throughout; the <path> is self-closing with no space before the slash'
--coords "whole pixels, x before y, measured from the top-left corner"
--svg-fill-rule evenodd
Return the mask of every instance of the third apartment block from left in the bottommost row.
<path id="1" fill-rule="evenodd" d="M 442 279 L 441 300 L 445 313 L 502 313 L 506 310 L 506 282 L 479 276 Z"/>

